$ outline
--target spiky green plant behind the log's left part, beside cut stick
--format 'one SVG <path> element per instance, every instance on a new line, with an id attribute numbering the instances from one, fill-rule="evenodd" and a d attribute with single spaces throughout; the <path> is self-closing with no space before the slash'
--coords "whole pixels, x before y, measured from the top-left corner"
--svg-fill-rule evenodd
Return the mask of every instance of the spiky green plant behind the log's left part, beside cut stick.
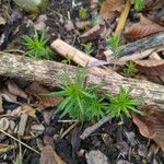
<path id="1" fill-rule="evenodd" d="M 23 36 L 23 44 L 26 46 L 27 51 L 24 54 L 34 59 L 52 59 L 52 51 L 47 46 L 46 33 L 42 32 L 40 36 L 35 31 L 35 37 L 31 38 L 27 35 Z"/>

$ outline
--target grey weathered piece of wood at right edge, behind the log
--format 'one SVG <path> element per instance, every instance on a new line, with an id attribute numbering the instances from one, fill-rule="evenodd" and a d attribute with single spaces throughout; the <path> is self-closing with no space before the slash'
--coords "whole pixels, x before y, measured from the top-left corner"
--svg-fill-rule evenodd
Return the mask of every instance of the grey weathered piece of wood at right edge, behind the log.
<path id="1" fill-rule="evenodd" d="M 121 46 L 120 57 L 162 46 L 164 46 L 164 32 Z M 106 52 L 108 54 L 108 50 L 106 50 Z"/>

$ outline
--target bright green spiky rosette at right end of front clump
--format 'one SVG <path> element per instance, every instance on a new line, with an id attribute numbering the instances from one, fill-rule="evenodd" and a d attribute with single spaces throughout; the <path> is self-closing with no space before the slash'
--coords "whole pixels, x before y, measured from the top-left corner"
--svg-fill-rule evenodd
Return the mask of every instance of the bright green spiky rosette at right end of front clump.
<path id="1" fill-rule="evenodd" d="M 120 87 L 117 95 L 108 94 L 110 104 L 107 114 L 112 115 L 113 117 L 119 118 L 122 118 L 124 115 L 130 117 L 130 110 L 141 114 L 137 106 L 142 105 L 143 102 L 130 97 L 131 91 L 132 89 L 126 90 L 124 87 Z"/>

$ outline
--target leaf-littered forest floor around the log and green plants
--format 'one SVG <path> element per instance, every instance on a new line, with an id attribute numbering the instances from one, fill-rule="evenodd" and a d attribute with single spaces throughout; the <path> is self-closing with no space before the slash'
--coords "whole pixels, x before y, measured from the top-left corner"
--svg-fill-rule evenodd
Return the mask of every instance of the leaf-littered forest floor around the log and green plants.
<path id="1" fill-rule="evenodd" d="M 151 0 L 147 2 L 145 9 L 141 12 L 136 11 L 132 3 L 125 30 L 121 30 L 120 46 L 164 32 L 164 2 Z M 117 4 L 117 9 L 115 7 L 112 11 L 115 11 L 113 16 L 108 16 L 105 12 L 109 7 L 101 9 L 104 8 L 102 3 L 98 0 L 51 0 L 46 10 L 36 15 L 21 10 L 12 0 L 0 1 L 0 55 L 3 52 L 23 56 L 27 51 L 23 36 L 33 38 L 36 35 L 35 28 L 47 32 L 49 47 L 54 40 L 60 38 L 86 56 L 108 61 L 104 52 L 109 49 L 106 38 L 117 28 L 125 1 L 122 4 Z M 99 19 L 99 10 L 105 21 Z M 152 58 L 157 65 L 155 61 L 163 61 L 164 51 L 163 47 L 155 48 L 156 50 L 144 59 Z M 51 50 L 51 60 L 77 66 L 69 57 L 66 59 L 59 52 Z M 46 60 L 44 57 L 42 59 Z M 151 66 L 149 68 L 147 65 L 142 66 L 141 60 L 144 59 L 140 58 L 138 62 L 133 60 L 139 66 L 139 70 L 134 72 L 125 71 L 129 71 L 127 62 L 118 63 L 116 67 L 114 63 L 112 69 L 126 78 L 144 79 L 163 85 L 163 74 L 154 77 L 155 71 L 150 69 Z M 39 59 L 34 58 L 34 60 Z M 101 62 L 96 65 L 104 67 Z M 157 72 L 157 67 L 155 70 Z M 152 74 L 147 73 L 150 71 Z M 62 97 L 39 95 L 52 91 L 59 91 L 59 87 L 44 85 L 42 81 L 39 83 L 11 78 L 8 74 L 1 75 L 0 164 L 164 163 L 164 153 L 160 149 L 164 148 L 163 139 L 156 144 L 151 140 L 153 138 L 143 137 L 145 131 L 142 133 L 139 128 L 144 126 L 140 125 L 141 127 L 138 128 L 132 118 L 113 118 L 82 140 L 80 136 L 84 129 L 98 120 L 81 124 L 68 116 L 59 118 L 55 110 Z M 162 132 L 161 138 L 164 137 L 164 131 Z"/>

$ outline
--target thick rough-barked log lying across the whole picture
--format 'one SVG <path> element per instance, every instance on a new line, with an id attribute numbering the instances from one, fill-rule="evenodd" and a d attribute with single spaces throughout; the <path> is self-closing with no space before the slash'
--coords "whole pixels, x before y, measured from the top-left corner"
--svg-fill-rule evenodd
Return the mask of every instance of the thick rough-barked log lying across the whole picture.
<path id="1" fill-rule="evenodd" d="M 38 81 L 46 85 L 52 85 L 60 83 L 59 77 L 67 71 L 71 78 L 74 77 L 77 67 L 67 66 L 63 63 L 39 60 L 10 55 L 0 55 L 0 75 L 11 78 L 23 78 L 24 80 Z M 143 80 L 134 80 L 120 78 L 117 75 L 108 74 L 103 72 L 93 72 L 87 69 L 86 71 L 89 85 L 104 83 L 105 86 L 102 89 L 103 92 L 110 91 L 118 93 L 119 86 L 129 87 L 132 86 L 133 91 L 131 96 L 142 97 L 143 101 L 155 107 L 156 109 L 164 110 L 164 86 Z"/>

